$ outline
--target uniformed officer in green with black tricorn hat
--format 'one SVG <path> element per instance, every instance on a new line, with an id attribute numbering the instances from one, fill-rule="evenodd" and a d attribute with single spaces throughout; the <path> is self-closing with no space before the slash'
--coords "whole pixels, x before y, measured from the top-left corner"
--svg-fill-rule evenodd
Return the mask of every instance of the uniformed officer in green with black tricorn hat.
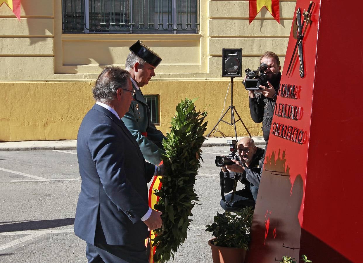
<path id="1" fill-rule="evenodd" d="M 164 153 L 162 141 L 165 136 L 151 122 L 150 109 L 140 88 L 155 76 L 154 70 L 162 59 L 140 41 L 129 49 L 131 52 L 126 58 L 126 70 L 131 74 L 135 95 L 122 120 L 138 142 L 145 159 L 159 164 Z"/>

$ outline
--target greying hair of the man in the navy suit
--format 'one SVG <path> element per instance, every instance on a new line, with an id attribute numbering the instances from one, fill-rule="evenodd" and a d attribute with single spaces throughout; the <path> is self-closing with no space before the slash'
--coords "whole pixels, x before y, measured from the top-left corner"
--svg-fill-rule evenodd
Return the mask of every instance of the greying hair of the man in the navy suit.
<path id="1" fill-rule="evenodd" d="M 115 98 L 118 88 L 127 86 L 130 77 L 129 71 L 121 69 L 121 67 L 105 67 L 92 88 L 93 98 L 102 103 L 110 102 Z"/>

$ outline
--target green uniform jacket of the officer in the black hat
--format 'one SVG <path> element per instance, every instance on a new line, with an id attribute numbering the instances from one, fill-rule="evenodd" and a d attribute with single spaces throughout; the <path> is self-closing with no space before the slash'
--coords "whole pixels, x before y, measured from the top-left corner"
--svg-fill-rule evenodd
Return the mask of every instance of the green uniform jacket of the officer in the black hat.
<path id="1" fill-rule="evenodd" d="M 162 140 L 165 136 L 151 122 L 150 109 L 141 90 L 138 90 L 134 83 L 132 83 L 132 87 L 135 90 L 134 100 L 132 100 L 129 112 L 126 112 L 122 121 L 135 137 L 144 158 L 152 164 L 159 164 L 164 153 Z M 143 135 L 145 133 L 147 136 Z"/>

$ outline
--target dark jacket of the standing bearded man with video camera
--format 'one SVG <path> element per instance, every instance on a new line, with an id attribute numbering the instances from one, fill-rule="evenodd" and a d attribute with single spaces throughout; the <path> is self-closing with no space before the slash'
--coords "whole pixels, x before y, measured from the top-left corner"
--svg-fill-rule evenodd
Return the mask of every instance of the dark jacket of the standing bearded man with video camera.
<path id="1" fill-rule="evenodd" d="M 277 91 L 280 86 L 281 73 L 279 72 L 274 81 L 270 83 Z M 251 118 L 255 123 L 262 122 L 262 133 L 264 135 L 264 140 L 269 140 L 271 124 L 272 124 L 272 116 L 275 110 L 276 100 L 272 98 L 266 98 L 264 95 L 259 94 L 255 98 L 249 98 L 249 107 Z"/>

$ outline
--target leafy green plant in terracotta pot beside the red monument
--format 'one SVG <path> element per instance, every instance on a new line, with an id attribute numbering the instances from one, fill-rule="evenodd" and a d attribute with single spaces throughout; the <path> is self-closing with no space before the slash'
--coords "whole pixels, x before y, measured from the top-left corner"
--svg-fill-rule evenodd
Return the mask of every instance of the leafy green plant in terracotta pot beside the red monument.
<path id="1" fill-rule="evenodd" d="M 205 231 L 214 238 L 208 244 L 212 249 L 213 263 L 243 263 L 250 241 L 253 209 L 246 207 L 241 212 L 224 212 L 214 217 L 212 225 Z"/>

